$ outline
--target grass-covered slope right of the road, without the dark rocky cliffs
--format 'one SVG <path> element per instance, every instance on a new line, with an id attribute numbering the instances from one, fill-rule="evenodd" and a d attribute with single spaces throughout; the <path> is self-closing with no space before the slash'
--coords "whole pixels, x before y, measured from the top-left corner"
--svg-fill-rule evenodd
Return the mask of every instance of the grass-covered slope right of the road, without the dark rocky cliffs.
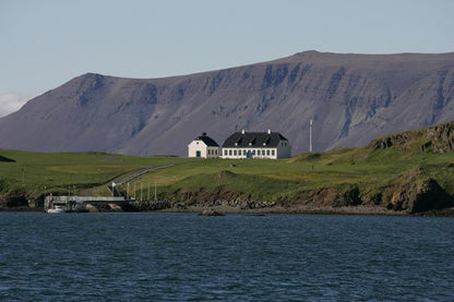
<path id="1" fill-rule="evenodd" d="M 296 198 L 307 190 L 357 185 L 362 194 L 383 189 L 399 174 L 421 168 L 449 193 L 454 193 L 452 153 L 409 154 L 396 147 L 371 152 L 343 148 L 321 154 L 303 154 L 285 160 L 201 159 L 154 171 L 136 180 L 144 188 L 157 182 L 160 196 L 183 192 L 236 192 L 244 198 L 274 201 Z M 235 165 L 236 167 L 232 167 Z M 219 177 L 223 170 L 234 177 Z M 136 185 L 139 188 L 139 184 Z"/>

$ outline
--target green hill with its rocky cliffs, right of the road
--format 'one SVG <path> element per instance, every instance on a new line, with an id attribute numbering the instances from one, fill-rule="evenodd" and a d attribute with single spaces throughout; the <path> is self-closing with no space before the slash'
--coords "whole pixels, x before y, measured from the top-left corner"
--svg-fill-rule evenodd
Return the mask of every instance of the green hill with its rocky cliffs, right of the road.
<path id="1" fill-rule="evenodd" d="M 362 148 L 307 153 L 280 160 L 182 162 L 138 179 L 162 198 L 187 204 L 260 201 L 314 206 L 450 206 L 454 194 L 454 123 L 389 135 Z M 227 172 L 223 172 L 227 171 Z M 138 188 L 138 186 L 136 186 Z M 442 201 L 439 205 L 438 202 Z"/>

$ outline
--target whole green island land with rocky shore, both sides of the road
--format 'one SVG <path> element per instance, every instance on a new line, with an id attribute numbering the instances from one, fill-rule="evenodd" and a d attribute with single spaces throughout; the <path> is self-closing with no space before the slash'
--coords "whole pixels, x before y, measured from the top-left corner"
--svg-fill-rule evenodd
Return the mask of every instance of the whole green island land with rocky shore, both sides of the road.
<path id="1" fill-rule="evenodd" d="M 307 153 L 279 160 L 130 157 L 99 153 L 1 150 L 0 195 L 74 193 L 145 167 L 176 164 L 130 184 L 188 205 L 386 206 L 409 212 L 449 207 L 454 195 L 454 123 L 387 135 L 362 148 Z M 142 188 L 142 190 L 140 189 Z M 121 188 L 127 191 L 126 185 Z M 108 191 L 106 191 L 108 192 Z M 441 201 L 441 202 L 439 202 Z M 428 204 L 429 203 L 429 204 Z"/>

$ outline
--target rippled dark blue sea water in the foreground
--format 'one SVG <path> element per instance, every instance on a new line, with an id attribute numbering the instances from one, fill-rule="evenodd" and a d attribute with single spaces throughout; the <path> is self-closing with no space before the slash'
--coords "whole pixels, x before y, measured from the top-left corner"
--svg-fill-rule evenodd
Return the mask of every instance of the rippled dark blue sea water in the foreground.
<path id="1" fill-rule="evenodd" d="M 0 213 L 0 301 L 453 301 L 454 219 Z"/>

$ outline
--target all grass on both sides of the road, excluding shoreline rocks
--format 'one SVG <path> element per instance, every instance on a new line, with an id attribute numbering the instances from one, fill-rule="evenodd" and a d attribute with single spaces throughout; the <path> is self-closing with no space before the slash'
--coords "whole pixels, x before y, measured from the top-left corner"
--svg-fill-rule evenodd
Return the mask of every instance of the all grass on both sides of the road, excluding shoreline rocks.
<path id="1" fill-rule="evenodd" d="M 136 191 L 141 183 L 143 192 L 147 191 L 148 183 L 152 190 L 157 183 L 160 197 L 176 198 L 184 192 L 223 191 L 243 198 L 274 201 L 297 198 L 308 190 L 356 185 L 367 196 L 383 190 L 399 174 L 419 169 L 453 194 L 454 168 L 451 166 L 454 165 L 451 164 L 454 164 L 454 153 L 421 152 L 419 146 L 428 140 L 421 133 L 405 133 L 407 138 L 403 144 L 393 143 L 386 148 L 377 148 L 372 142 L 363 148 L 339 148 L 280 160 L 140 158 L 99 153 L 46 154 L 0 149 L 0 156 L 15 160 L 0 161 L 0 194 L 25 189 L 29 196 L 38 196 L 45 192 L 45 186 L 47 192 L 65 192 L 73 186 L 91 188 L 127 171 L 165 164 L 178 165 L 136 179 Z M 235 176 L 219 177 L 223 170 Z M 134 188 L 134 183 L 130 188 Z"/>

